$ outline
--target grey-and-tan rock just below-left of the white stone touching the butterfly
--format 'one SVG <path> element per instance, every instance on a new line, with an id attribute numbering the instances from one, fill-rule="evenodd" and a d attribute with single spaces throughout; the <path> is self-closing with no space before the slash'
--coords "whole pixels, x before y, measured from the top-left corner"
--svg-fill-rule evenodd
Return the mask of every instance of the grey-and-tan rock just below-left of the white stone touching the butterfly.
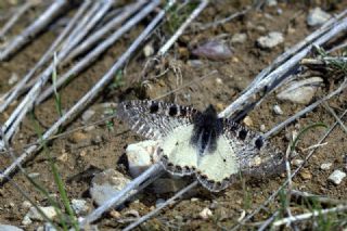
<path id="1" fill-rule="evenodd" d="M 92 179 L 90 195 L 98 205 L 113 197 L 117 192 L 123 190 L 130 180 L 123 174 L 114 170 L 104 170 Z"/>

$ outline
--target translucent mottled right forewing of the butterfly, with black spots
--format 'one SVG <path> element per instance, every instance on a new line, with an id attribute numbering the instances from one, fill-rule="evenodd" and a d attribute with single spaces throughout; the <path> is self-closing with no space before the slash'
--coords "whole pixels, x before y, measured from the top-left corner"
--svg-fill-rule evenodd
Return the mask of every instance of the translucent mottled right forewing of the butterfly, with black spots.
<path id="1" fill-rule="evenodd" d="M 223 134 L 236 154 L 241 172 L 265 177 L 284 169 L 283 154 L 274 150 L 260 133 L 230 119 L 224 119 L 223 124 Z"/>

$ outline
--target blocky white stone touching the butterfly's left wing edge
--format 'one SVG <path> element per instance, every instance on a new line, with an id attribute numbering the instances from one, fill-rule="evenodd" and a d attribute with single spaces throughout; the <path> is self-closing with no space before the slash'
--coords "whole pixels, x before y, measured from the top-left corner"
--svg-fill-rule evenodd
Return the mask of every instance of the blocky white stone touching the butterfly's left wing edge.
<path id="1" fill-rule="evenodd" d="M 156 149 L 157 142 L 153 140 L 145 140 L 127 146 L 126 155 L 131 177 L 138 177 L 151 167 L 154 164 L 152 159 L 158 161 L 155 154 Z"/>

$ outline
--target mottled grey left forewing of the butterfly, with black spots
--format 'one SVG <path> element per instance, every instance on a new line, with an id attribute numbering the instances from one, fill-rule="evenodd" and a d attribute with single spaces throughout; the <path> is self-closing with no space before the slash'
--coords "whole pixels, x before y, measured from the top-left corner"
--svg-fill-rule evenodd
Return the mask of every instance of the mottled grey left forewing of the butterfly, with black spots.
<path id="1" fill-rule="evenodd" d="M 132 130 L 153 140 L 168 136 L 179 126 L 192 124 L 197 113 L 190 106 L 150 100 L 125 101 L 117 108 L 117 115 L 128 121 Z"/>

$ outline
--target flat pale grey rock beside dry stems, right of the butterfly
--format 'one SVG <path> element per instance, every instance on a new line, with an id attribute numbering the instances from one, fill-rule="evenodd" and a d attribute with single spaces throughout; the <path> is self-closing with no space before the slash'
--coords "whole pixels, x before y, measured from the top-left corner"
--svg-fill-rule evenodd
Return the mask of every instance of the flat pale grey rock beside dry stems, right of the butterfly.
<path id="1" fill-rule="evenodd" d="M 292 81 L 284 86 L 277 98 L 282 101 L 290 101 L 298 104 L 308 104 L 314 97 L 319 86 L 323 84 L 320 77 L 312 77 L 299 81 Z"/>

